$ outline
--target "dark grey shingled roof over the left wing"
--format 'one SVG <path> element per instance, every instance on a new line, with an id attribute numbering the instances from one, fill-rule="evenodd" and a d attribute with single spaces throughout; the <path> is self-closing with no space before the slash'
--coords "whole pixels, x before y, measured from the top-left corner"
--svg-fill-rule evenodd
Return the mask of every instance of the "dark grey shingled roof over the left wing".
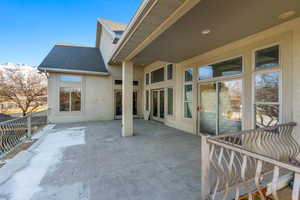
<path id="1" fill-rule="evenodd" d="M 38 69 L 108 73 L 98 48 L 70 44 L 56 44 Z"/>

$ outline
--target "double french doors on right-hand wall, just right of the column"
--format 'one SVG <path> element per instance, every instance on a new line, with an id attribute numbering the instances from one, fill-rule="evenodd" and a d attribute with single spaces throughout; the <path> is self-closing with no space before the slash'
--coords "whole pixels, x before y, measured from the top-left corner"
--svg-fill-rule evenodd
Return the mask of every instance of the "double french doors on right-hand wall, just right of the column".
<path id="1" fill-rule="evenodd" d="M 164 89 L 152 90 L 152 118 L 163 121 L 165 118 L 165 91 Z"/>

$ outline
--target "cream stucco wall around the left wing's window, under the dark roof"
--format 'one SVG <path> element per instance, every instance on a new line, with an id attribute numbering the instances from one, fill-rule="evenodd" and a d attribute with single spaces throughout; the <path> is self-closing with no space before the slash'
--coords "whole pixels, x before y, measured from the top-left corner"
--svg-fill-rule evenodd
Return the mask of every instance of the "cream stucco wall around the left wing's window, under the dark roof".
<path id="1" fill-rule="evenodd" d="M 80 112 L 60 112 L 59 75 L 51 73 L 48 80 L 50 121 L 52 123 L 113 119 L 113 91 L 110 77 L 81 75 L 82 110 Z"/>

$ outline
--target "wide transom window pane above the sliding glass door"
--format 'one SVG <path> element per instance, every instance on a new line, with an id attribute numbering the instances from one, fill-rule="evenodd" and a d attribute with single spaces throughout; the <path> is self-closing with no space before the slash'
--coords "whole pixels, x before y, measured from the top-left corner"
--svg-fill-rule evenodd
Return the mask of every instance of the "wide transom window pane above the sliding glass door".
<path id="1" fill-rule="evenodd" d="M 243 58 L 238 57 L 220 63 L 198 68 L 199 80 L 216 78 L 220 76 L 241 74 L 243 71 Z"/>

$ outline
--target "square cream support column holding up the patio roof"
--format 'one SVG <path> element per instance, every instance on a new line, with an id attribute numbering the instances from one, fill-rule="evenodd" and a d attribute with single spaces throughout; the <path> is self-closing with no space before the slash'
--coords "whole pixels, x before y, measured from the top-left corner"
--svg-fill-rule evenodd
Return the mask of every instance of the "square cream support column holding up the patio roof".
<path id="1" fill-rule="evenodd" d="M 133 63 L 122 63 L 122 136 L 133 136 Z"/>

